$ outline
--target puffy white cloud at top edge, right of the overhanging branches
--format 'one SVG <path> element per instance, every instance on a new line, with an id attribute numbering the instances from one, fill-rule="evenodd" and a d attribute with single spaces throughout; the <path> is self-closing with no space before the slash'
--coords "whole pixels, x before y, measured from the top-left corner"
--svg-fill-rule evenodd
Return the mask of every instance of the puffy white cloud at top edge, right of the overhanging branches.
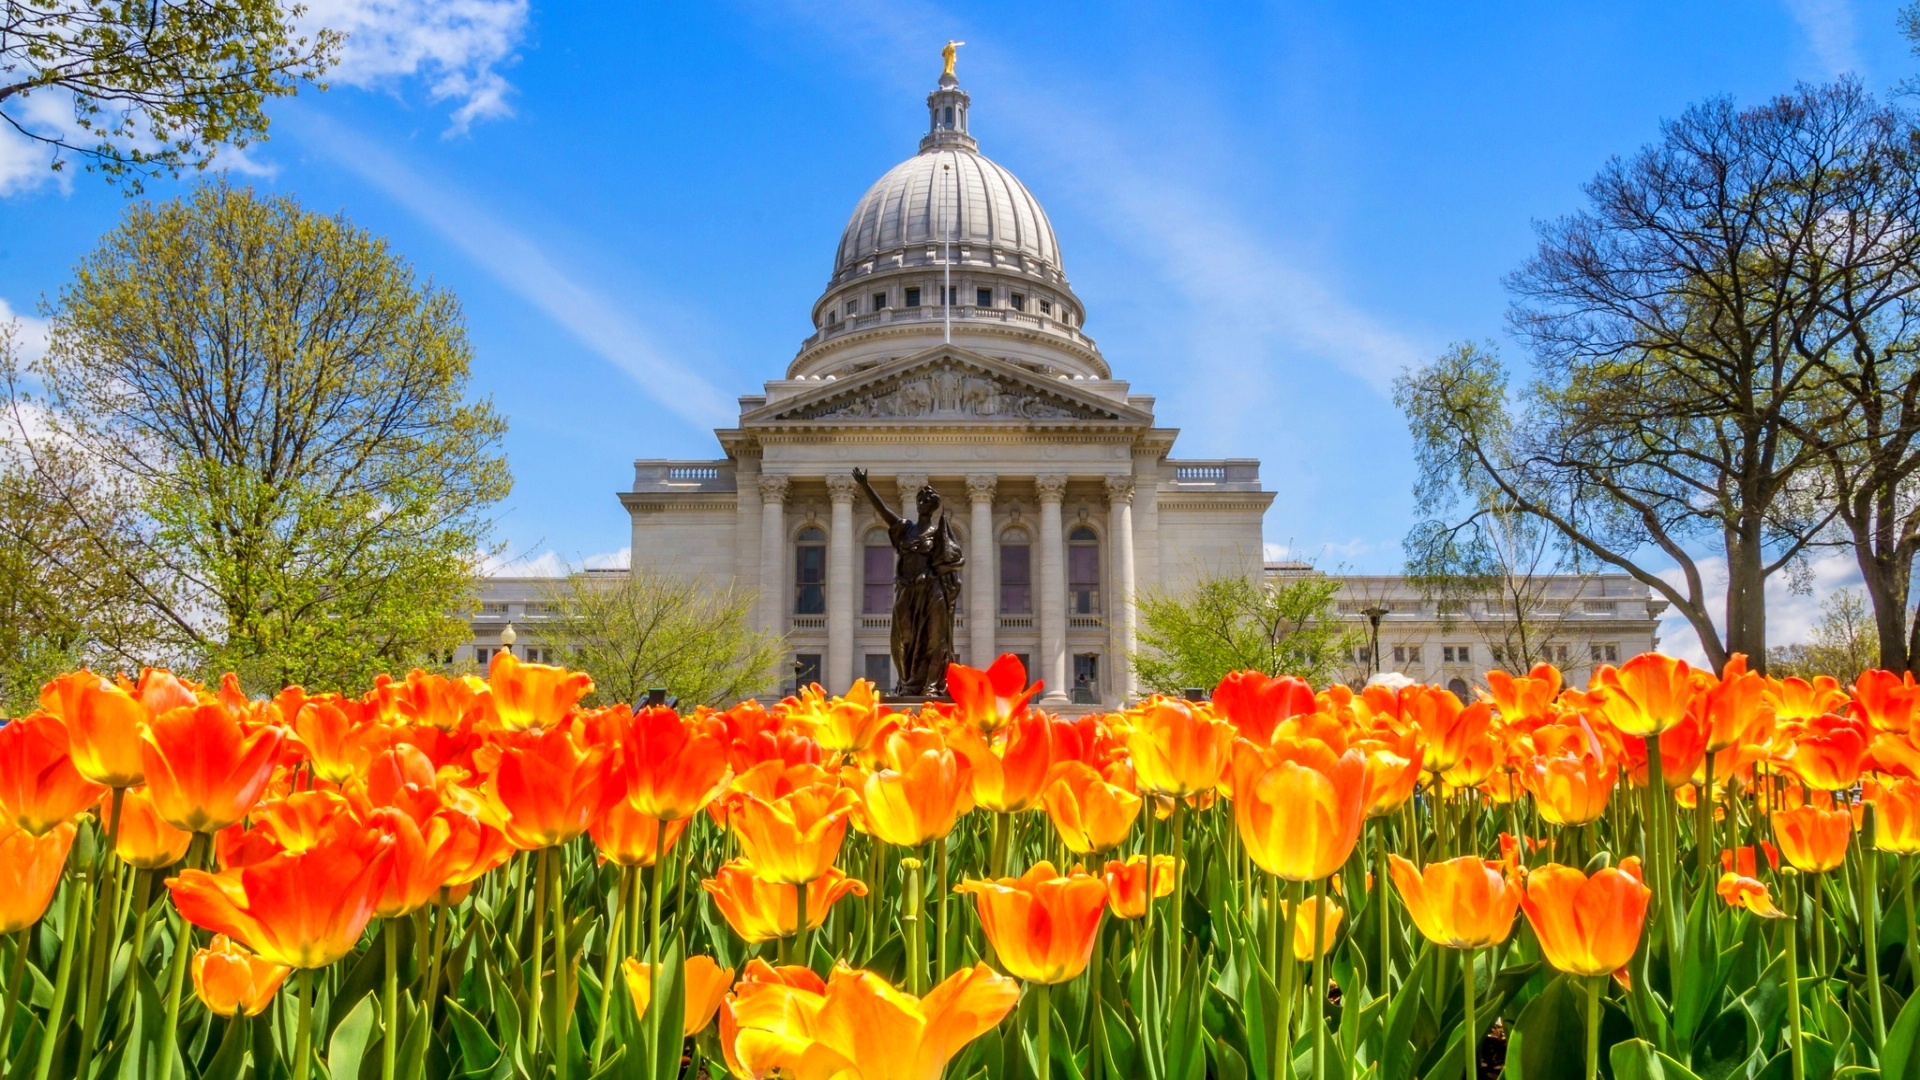
<path id="1" fill-rule="evenodd" d="M 447 135 L 513 115 L 499 69 L 526 33 L 526 0 L 309 0 L 301 21 L 348 35 L 330 81 L 388 88 L 420 77 L 436 102 L 459 102 Z"/>

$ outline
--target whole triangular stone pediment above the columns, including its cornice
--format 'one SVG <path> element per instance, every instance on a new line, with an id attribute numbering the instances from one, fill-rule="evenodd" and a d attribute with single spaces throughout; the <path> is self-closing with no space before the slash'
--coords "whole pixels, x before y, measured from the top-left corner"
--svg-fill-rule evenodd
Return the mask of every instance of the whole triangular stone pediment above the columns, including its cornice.
<path id="1" fill-rule="evenodd" d="M 753 423 L 1152 423 L 1152 415 L 1016 363 L 937 346 L 822 382 L 741 417 Z"/>

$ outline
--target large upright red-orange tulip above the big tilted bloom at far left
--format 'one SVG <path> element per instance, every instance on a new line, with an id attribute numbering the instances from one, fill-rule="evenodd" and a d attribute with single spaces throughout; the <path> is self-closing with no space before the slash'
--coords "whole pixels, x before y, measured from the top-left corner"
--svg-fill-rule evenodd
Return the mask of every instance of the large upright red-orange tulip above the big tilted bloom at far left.
<path id="1" fill-rule="evenodd" d="M 140 746 L 154 809 L 175 828 L 219 832 L 259 801 L 286 732 L 248 730 L 225 703 L 154 717 Z"/>

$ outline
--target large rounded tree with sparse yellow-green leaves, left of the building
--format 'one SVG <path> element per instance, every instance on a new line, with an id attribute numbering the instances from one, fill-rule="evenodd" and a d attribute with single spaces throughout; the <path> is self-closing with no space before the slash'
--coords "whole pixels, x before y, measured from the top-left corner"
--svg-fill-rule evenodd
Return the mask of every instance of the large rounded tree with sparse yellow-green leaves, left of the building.
<path id="1" fill-rule="evenodd" d="M 359 688 L 447 655 L 509 486 L 459 302 L 384 240 L 225 183 L 132 206 L 52 309 L 44 434 L 138 513 L 159 651 Z M 100 548 L 108 540 L 90 527 Z"/>

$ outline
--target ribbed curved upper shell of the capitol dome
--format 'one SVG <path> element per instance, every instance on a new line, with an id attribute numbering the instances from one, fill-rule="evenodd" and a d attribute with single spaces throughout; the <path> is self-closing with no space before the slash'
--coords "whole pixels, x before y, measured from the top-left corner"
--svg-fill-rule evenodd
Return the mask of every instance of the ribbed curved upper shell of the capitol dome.
<path id="1" fill-rule="evenodd" d="M 941 165 L 950 165 L 947 179 Z M 854 206 L 833 259 L 833 281 L 900 248 L 952 240 L 1018 254 L 1029 269 L 1060 273 L 1060 242 L 1033 192 L 1014 173 L 972 150 L 929 150 L 900 161 Z"/>

